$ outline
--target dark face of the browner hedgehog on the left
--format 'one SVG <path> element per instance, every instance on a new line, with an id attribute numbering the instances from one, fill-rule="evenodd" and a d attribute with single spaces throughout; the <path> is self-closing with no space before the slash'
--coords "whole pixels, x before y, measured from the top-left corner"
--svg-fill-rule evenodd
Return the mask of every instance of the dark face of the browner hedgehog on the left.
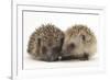
<path id="1" fill-rule="evenodd" d="M 63 38 L 57 39 L 41 39 L 40 41 L 40 55 L 42 60 L 55 61 L 58 60 L 62 50 Z"/>

